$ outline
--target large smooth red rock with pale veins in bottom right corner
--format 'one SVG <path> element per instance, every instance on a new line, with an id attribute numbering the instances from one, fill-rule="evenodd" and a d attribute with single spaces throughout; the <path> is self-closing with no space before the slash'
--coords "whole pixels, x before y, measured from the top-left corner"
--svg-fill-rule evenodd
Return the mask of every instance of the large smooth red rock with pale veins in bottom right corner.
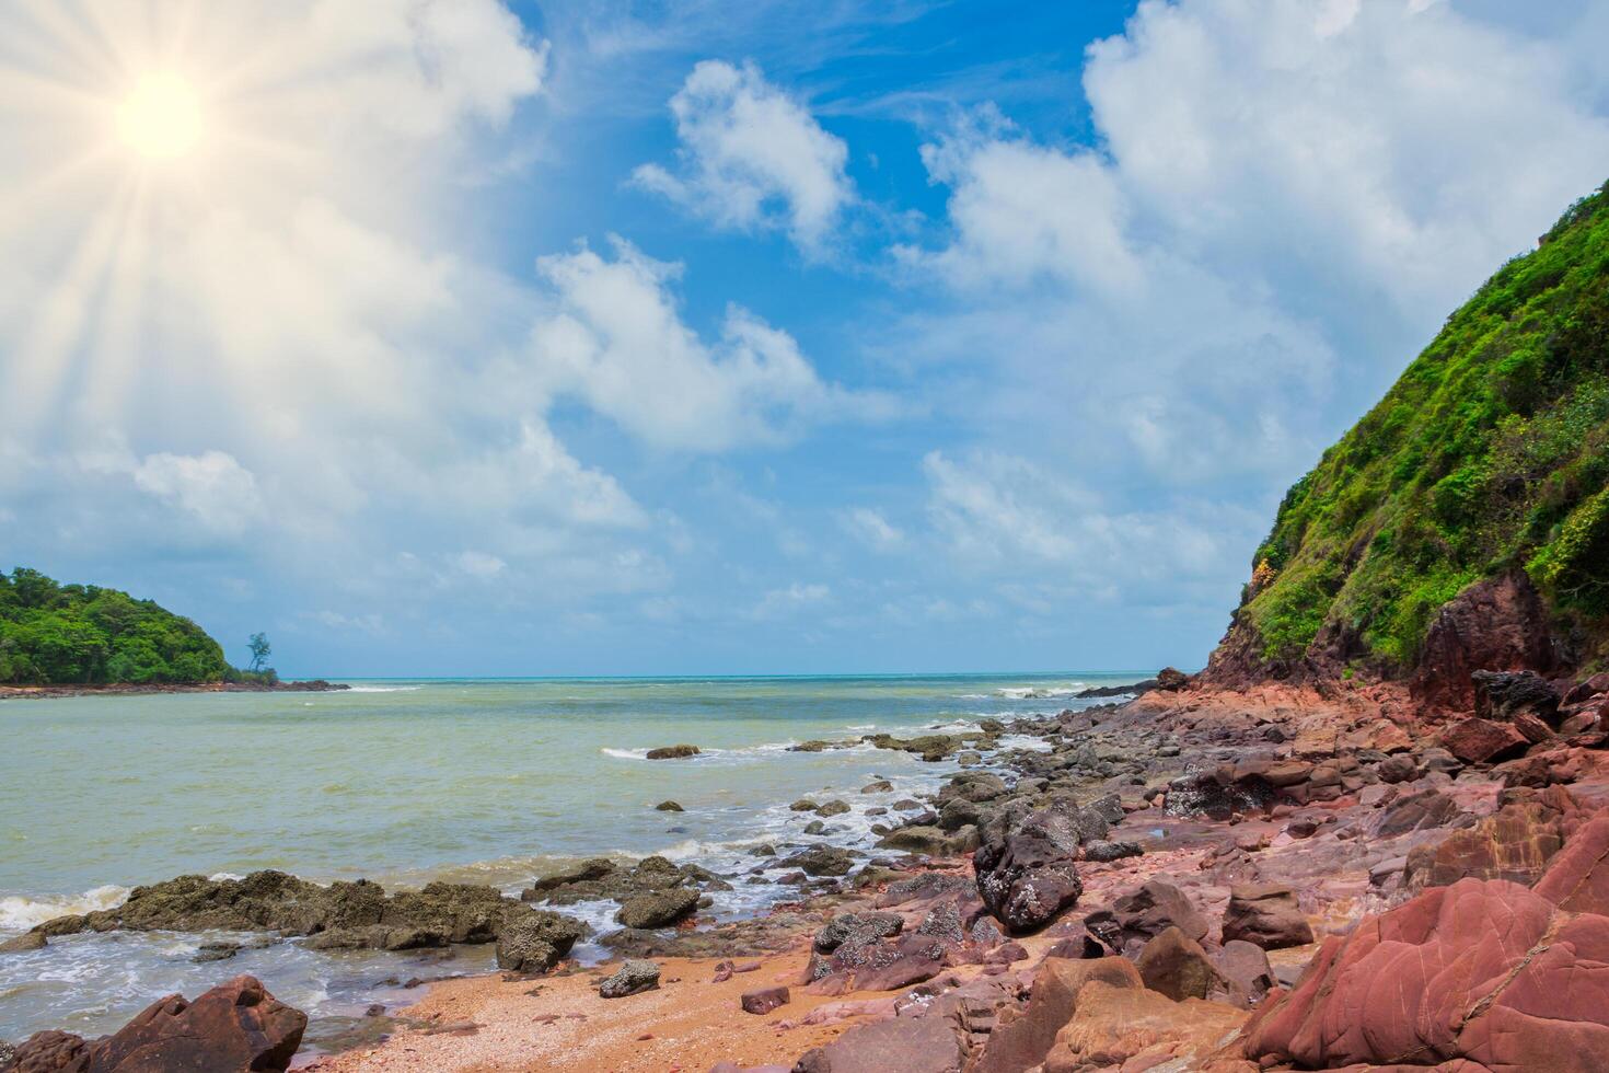
<path id="1" fill-rule="evenodd" d="M 1247 1028 L 1266 1067 L 1389 1065 L 1405 1055 L 1488 1070 L 1609 1068 L 1609 919 L 1570 915 L 1504 880 L 1429 890 L 1329 938 Z"/>

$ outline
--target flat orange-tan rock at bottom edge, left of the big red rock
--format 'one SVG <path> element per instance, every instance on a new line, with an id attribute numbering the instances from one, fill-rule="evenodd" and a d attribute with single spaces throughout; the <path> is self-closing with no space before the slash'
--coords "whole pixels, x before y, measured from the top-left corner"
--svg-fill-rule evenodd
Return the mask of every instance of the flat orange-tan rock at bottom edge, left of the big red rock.
<path id="1" fill-rule="evenodd" d="M 1245 1018 L 1232 1005 L 1175 1002 L 1146 988 L 1113 988 L 1096 980 L 1078 993 L 1078 1009 L 1056 1034 L 1044 1073 L 1200 1070 L 1200 1060 L 1232 1038 Z"/>

